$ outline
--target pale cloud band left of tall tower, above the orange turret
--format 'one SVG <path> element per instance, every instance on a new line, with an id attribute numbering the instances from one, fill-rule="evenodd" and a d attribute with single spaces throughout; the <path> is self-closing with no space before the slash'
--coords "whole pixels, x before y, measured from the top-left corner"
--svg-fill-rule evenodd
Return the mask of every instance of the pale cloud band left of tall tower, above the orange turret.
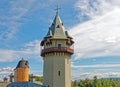
<path id="1" fill-rule="evenodd" d="M 34 58 L 40 57 L 40 41 L 35 40 L 24 45 L 20 50 L 0 49 L 0 62 L 10 62 L 21 57 Z"/>

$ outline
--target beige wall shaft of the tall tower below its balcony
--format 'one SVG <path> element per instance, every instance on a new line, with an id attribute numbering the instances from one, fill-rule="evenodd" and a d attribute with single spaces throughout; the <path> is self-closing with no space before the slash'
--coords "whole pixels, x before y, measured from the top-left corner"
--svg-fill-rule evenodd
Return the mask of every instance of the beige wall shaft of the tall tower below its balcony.
<path id="1" fill-rule="evenodd" d="M 44 84 L 46 87 L 71 87 L 70 56 L 55 54 L 44 57 Z"/>

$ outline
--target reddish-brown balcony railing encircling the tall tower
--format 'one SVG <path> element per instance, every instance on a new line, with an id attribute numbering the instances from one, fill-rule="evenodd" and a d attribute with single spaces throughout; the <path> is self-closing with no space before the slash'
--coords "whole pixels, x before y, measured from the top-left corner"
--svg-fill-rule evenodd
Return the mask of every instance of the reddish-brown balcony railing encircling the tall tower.
<path id="1" fill-rule="evenodd" d="M 51 48 L 44 48 L 41 51 L 41 56 L 44 56 L 46 53 L 52 53 L 52 52 L 66 52 L 66 53 L 70 53 L 73 54 L 74 51 L 71 48 L 67 48 L 67 47 L 51 47 Z"/>

